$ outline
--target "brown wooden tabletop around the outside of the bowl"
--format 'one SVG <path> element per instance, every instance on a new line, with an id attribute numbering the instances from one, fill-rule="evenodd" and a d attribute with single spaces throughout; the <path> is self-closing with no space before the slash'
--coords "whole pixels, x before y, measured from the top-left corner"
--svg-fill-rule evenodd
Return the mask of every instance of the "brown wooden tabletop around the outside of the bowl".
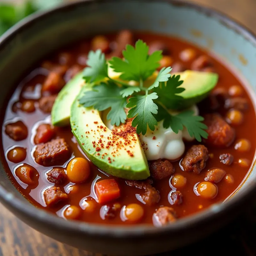
<path id="1" fill-rule="evenodd" d="M 256 32 L 256 0 L 194 0 L 220 10 Z M 256 205 L 256 204 L 255 204 Z M 256 207 L 203 241 L 161 255 L 256 255 Z M 254 237 L 254 239 L 253 239 Z M 171 237 L 170 237 L 171 239 Z M 0 256 L 84 256 L 84 252 L 40 234 L 0 204 Z"/>

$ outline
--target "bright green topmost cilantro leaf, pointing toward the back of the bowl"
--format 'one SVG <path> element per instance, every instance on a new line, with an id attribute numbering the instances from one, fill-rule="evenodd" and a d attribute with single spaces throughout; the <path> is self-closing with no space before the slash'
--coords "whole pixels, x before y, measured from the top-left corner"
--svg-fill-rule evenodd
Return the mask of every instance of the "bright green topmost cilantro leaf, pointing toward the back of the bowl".
<path id="1" fill-rule="evenodd" d="M 122 72 L 120 78 L 126 81 L 145 81 L 160 66 L 162 52 L 156 51 L 148 55 L 148 46 L 142 40 L 138 40 L 135 47 L 128 44 L 123 51 L 124 60 L 113 57 L 109 61 L 115 72 Z"/>

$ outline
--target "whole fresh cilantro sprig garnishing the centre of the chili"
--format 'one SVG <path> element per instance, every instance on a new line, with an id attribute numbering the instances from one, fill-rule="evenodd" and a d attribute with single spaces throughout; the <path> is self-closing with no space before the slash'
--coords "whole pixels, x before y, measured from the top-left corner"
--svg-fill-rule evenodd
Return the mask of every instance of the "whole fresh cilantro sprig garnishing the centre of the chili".
<path id="1" fill-rule="evenodd" d="M 146 134 L 148 128 L 155 130 L 157 122 L 163 121 L 164 128 L 178 133 L 187 128 L 190 136 L 201 141 L 207 138 L 207 126 L 202 123 L 202 116 L 195 116 L 191 110 L 185 110 L 173 115 L 169 109 L 175 108 L 177 102 L 182 102 L 179 95 L 185 89 L 180 76 L 171 76 L 171 67 L 162 68 L 155 80 L 149 86 L 144 83 L 159 68 L 162 52 L 148 54 L 149 47 L 138 40 L 135 47 L 127 45 L 123 51 L 124 58 L 113 57 L 107 62 L 100 50 L 89 52 L 87 65 L 84 69 L 84 79 L 93 83 L 92 91 L 85 92 L 80 99 L 84 107 L 94 107 L 99 111 L 110 108 L 107 119 L 112 125 L 125 123 L 126 118 L 133 118 L 132 126 L 138 134 Z M 108 74 L 110 67 L 120 73 L 119 79 L 113 79 Z M 136 85 L 131 85 L 135 81 Z M 134 83 L 133 83 L 134 84 Z M 177 106 L 176 106 L 177 107 Z M 125 108 L 130 108 L 126 116 Z"/>

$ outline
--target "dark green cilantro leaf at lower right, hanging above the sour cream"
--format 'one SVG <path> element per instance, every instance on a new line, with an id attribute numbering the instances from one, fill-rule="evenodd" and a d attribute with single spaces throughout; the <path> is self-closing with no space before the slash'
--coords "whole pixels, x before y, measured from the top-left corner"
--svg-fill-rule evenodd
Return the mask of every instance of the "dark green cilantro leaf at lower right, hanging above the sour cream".
<path id="1" fill-rule="evenodd" d="M 159 122 L 164 119 L 164 128 L 171 127 L 172 131 L 178 133 L 179 130 L 183 130 L 183 126 L 188 129 L 188 133 L 191 137 L 195 137 L 197 141 L 201 142 L 202 138 L 207 139 L 208 133 L 205 131 L 207 126 L 202 123 L 204 117 L 194 116 L 193 110 L 186 110 L 178 115 L 170 114 L 163 106 L 158 105 L 158 115 L 156 120 Z"/>

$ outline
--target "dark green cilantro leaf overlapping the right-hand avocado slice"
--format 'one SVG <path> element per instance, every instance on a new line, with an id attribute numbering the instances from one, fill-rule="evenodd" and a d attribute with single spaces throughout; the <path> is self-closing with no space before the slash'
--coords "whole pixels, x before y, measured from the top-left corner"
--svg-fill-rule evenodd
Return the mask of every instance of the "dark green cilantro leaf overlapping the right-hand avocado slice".
<path id="1" fill-rule="evenodd" d="M 154 88 L 154 92 L 158 95 L 158 100 L 168 109 L 176 109 L 178 102 L 183 98 L 180 95 L 177 95 L 183 91 L 184 88 L 179 87 L 183 81 L 180 81 L 180 75 L 169 78 L 166 82 L 160 83 L 158 87 Z"/>

